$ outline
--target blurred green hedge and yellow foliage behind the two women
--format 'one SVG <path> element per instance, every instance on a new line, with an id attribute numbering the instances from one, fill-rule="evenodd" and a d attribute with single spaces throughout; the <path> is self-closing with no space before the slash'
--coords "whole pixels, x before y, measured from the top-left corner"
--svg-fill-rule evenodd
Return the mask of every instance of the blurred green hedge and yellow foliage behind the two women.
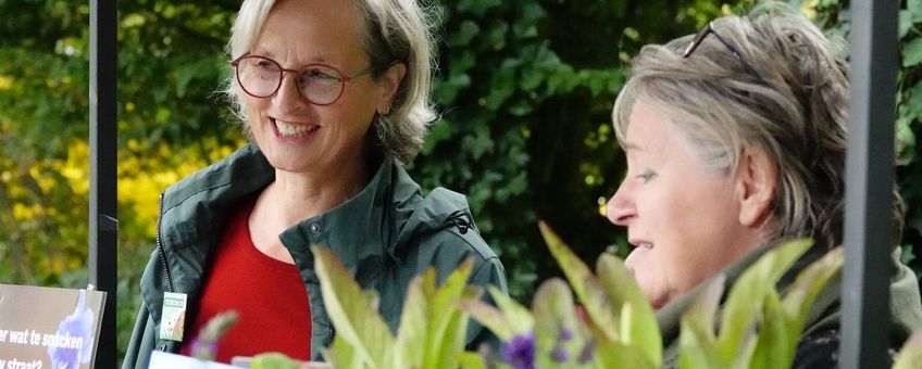
<path id="1" fill-rule="evenodd" d="M 842 0 L 792 0 L 847 37 Z M 244 143 L 215 91 L 239 0 L 119 2 L 119 347 L 140 303 L 157 199 Z M 624 171 L 610 126 L 630 56 L 695 33 L 752 1 L 456 0 L 437 5 L 434 97 L 441 113 L 409 166 L 425 189 L 469 195 L 501 255 L 510 292 L 531 300 L 559 275 L 540 241 L 546 219 L 586 260 L 624 255 L 600 215 Z M 908 203 L 904 257 L 922 247 L 922 0 L 900 4 L 897 176 Z M 89 7 L 0 0 L 0 283 L 87 281 Z"/>

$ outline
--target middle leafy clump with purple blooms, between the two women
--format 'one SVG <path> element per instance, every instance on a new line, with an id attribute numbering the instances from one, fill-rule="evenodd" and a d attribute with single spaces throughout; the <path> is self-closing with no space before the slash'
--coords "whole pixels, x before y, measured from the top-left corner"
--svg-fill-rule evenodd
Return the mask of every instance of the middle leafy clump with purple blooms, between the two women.
<path id="1" fill-rule="evenodd" d="M 661 367 L 653 309 L 624 264 L 602 254 L 594 275 L 545 224 L 540 228 L 570 285 L 557 278 L 541 283 L 532 310 L 496 290 L 490 293 L 498 309 L 475 301 L 462 305 L 503 341 L 502 359 L 516 369 Z M 574 293 L 585 314 L 574 304 Z M 524 343 L 531 348 L 521 349 Z"/>

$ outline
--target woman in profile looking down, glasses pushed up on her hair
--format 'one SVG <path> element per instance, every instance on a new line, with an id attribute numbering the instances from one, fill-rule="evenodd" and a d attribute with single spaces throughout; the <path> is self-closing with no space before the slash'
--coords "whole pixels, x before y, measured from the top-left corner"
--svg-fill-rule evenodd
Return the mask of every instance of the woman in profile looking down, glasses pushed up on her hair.
<path id="1" fill-rule="evenodd" d="M 708 278 L 734 280 L 778 240 L 815 241 L 789 276 L 842 244 L 849 92 L 837 51 L 808 20 L 771 5 L 634 59 L 612 113 L 627 174 L 607 216 L 627 227 L 626 264 L 658 309 L 666 366 L 678 318 Z M 897 193 L 893 209 L 899 234 Z M 899 347 L 922 327 L 922 307 L 915 276 L 890 251 Z M 839 289 L 836 279 L 813 305 L 796 368 L 835 367 Z"/>

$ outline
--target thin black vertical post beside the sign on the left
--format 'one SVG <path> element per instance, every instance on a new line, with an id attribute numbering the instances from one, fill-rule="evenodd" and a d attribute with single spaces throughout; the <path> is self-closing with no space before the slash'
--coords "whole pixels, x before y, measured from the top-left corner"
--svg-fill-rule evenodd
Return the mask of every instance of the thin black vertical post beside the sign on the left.
<path id="1" fill-rule="evenodd" d="M 90 0 L 89 283 L 107 292 L 96 364 L 114 368 L 116 246 L 116 1 Z"/>

